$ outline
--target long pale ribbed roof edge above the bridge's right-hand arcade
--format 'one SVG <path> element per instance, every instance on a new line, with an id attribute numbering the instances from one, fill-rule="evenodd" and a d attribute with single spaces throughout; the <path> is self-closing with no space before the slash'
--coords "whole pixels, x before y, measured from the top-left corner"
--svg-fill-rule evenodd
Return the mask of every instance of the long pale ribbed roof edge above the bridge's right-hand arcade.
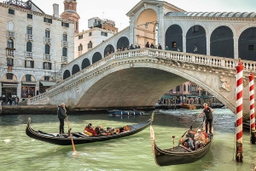
<path id="1" fill-rule="evenodd" d="M 170 17 L 239 17 L 256 18 L 256 13 L 241 12 L 169 12 L 165 16 Z"/>

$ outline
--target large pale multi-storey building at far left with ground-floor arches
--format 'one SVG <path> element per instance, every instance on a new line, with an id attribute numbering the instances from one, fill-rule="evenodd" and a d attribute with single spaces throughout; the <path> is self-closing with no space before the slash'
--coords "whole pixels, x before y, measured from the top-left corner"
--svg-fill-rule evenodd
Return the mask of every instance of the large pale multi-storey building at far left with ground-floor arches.
<path id="1" fill-rule="evenodd" d="M 61 66 L 73 60 L 75 23 L 44 14 L 31 1 L 0 3 L 0 15 L 2 100 L 43 93 L 59 80 Z"/>

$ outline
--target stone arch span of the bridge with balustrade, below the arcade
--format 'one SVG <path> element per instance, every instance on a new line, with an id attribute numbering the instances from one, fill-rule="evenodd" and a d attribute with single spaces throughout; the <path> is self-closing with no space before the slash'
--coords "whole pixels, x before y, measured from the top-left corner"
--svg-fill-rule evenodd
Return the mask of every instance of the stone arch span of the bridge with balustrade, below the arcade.
<path id="1" fill-rule="evenodd" d="M 108 55 L 28 100 L 28 105 L 66 103 L 73 110 L 152 107 L 170 88 L 191 81 L 236 111 L 238 60 L 152 48 Z M 244 111 L 249 112 L 248 75 L 256 62 L 243 60 Z"/>

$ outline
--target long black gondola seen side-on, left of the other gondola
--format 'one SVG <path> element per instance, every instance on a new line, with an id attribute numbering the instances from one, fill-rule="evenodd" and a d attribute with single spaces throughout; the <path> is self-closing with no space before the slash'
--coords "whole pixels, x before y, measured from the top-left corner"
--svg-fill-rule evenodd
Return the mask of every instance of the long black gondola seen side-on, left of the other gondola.
<path id="1" fill-rule="evenodd" d="M 88 136 L 84 133 L 75 132 L 72 133 L 73 143 L 75 145 L 84 144 L 84 143 L 92 143 L 96 141 L 103 141 L 103 140 L 112 140 L 118 139 L 121 137 L 129 136 L 131 134 L 137 134 L 138 132 L 142 131 L 144 128 L 147 128 L 154 120 L 154 112 L 148 121 L 143 123 L 137 123 L 128 125 L 131 129 L 126 130 L 125 132 L 120 132 L 119 134 L 110 134 L 105 136 Z M 124 127 L 120 127 L 124 128 Z M 49 134 L 43 131 L 36 131 L 31 128 L 31 118 L 28 118 L 28 123 L 26 125 L 26 134 L 36 140 L 42 140 L 51 144 L 55 145 L 72 145 L 71 136 L 68 134 Z"/>

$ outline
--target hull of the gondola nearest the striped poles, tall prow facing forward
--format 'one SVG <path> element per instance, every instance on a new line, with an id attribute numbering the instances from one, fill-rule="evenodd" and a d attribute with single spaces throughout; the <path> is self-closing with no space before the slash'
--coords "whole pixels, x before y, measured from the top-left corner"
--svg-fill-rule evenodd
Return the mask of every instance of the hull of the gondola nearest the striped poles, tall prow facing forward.
<path id="1" fill-rule="evenodd" d="M 150 126 L 150 136 L 152 142 L 152 150 L 154 153 L 154 161 L 159 166 L 171 166 L 171 165 L 178 165 L 178 164 L 186 164 L 190 162 L 195 162 L 207 154 L 211 144 L 213 134 L 208 134 L 209 141 L 208 143 L 201 149 L 196 151 L 192 151 L 184 145 L 177 145 L 173 148 L 169 149 L 160 149 L 154 140 L 154 129 Z"/>

